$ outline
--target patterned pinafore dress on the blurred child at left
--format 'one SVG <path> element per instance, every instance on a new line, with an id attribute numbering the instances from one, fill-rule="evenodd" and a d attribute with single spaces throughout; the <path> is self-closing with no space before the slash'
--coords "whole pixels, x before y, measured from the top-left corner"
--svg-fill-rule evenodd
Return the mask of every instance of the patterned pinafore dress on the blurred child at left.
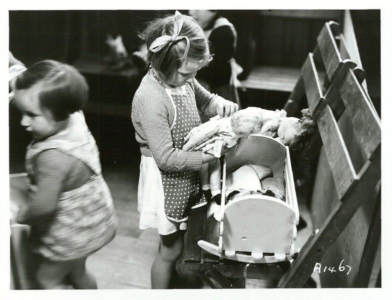
<path id="1" fill-rule="evenodd" d="M 118 226 L 112 196 L 101 173 L 95 140 L 81 112 L 70 118 L 72 130 L 81 133 L 83 141 L 67 138 L 67 134 L 42 142 L 33 140 L 26 154 L 28 185 L 32 191 L 36 185 L 35 159 L 47 149 L 74 156 L 94 172 L 84 185 L 61 193 L 53 219 L 32 226 L 33 250 L 52 261 L 89 256 L 114 238 Z"/>

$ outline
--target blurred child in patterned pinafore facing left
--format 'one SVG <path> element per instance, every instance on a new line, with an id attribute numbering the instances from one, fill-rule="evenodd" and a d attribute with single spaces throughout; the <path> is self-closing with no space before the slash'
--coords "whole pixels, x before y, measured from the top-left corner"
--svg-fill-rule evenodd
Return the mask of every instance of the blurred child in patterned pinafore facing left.
<path id="1" fill-rule="evenodd" d="M 31 225 L 33 250 L 43 257 L 38 282 L 59 289 L 67 277 L 74 288 L 97 288 L 86 259 L 114 238 L 117 218 L 81 112 L 87 83 L 75 68 L 46 60 L 15 87 L 21 125 L 34 137 L 26 154 L 29 198 L 17 220 Z"/>

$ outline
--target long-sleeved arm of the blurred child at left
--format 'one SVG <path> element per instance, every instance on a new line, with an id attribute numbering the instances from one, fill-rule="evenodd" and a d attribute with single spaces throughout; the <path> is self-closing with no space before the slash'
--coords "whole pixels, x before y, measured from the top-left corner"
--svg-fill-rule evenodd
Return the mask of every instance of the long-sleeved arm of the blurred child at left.
<path id="1" fill-rule="evenodd" d="M 37 188 L 29 192 L 28 201 L 21 206 L 17 217 L 19 223 L 39 224 L 54 216 L 75 160 L 55 149 L 43 151 L 37 156 Z"/>

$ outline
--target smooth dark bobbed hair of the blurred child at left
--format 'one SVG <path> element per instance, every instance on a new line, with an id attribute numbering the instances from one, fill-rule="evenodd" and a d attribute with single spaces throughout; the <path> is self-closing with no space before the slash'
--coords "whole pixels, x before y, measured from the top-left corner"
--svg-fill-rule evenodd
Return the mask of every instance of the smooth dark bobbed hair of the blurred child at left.
<path id="1" fill-rule="evenodd" d="M 79 71 L 53 60 L 38 62 L 18 76 L 16 89 L 37 87 L 39 105 L 62 121 L 85 105 L 89 87 Z"/>

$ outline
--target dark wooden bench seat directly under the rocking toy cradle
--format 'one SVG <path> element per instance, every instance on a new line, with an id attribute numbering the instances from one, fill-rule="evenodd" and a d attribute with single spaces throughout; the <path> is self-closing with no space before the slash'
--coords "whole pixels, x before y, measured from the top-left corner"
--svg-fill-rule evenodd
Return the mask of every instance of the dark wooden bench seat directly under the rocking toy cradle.
<path id="1" fill-rule="evenodd" d="M 180 273 L 200 276 L 212 288 L 245 287 L 245 278 L 279 280 L 289 262 L 238 262 L 215 256 L 197 245 L 200 239 L 218 245 L 219 222 L 213 216 L 215 209 L 215 204 L 207 204 L 191 210 L 184 254 L 179 263 Z"/>

